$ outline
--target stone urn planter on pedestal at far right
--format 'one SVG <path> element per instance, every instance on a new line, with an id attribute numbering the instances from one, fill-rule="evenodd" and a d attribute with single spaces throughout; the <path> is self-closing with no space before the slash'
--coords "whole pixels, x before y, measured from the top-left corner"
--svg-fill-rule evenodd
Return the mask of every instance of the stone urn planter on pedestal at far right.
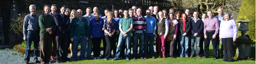
<path id="1" fill-rule="evenodd" d="M 249 31 L 248 24 L 251 20 L 236 20 L 238 22 L 238 30 L 241 31 L 241 37 L 238 37 L 236 43 L 237 60 L 245 60 L 251 57 L 251 46 L 253 40 L 245 36 L 246 31 Z"/>

